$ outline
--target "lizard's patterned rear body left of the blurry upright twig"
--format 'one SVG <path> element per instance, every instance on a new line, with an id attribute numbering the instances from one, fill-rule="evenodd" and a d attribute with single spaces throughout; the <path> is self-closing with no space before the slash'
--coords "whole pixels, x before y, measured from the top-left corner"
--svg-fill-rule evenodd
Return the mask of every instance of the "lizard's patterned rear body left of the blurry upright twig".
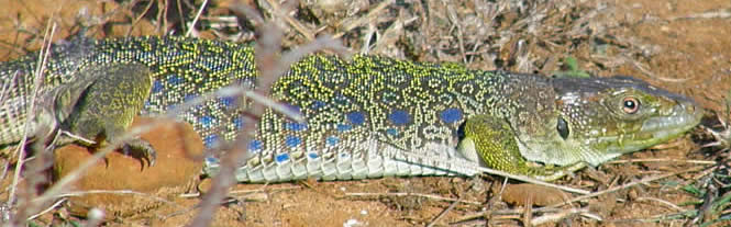
<path id="1" fill-rule="evenodd" d="M 253 48 L 248 45 L 209 39 L 185 37 L 130 37 L 91 39 L 77 36 L 71 41 L 54 45 L 52 56 L 45 65 L 45 83 L 41 91 L 49 90 L 64 83 L 75 82 L 77 70 L 95 70 L 90 66 L 136 63 L 147 66 L 153 72 L 153 89 L 142 114 L 160 114 L 207 92 L 215 91 L 228 84 L 240 83 L 251 87 L 254 70 Z M 13 73 L 18 78 L 32 78 L 36 67 L 37 54 L 31 54 L 13 61 L 0 65 L 0 79 L 10 83 Z M 15 79 L 18 80 L 18 79 Z M 32 91 L 33 82 L 19 81 L 24 88 L 13 90 Z M 16 95 L 24 95 L 22 92 Z M 20 104 L 20 106 L 26 106 Z M 210 100 L 190 110 L 184 110 L 180 118 L 190 122 L 203 136 L 210 147 L 215 141 L 234 139 L 242 123 L 242 107 L 237 100 L 221 98 Z M 23 121 L 26 116 L 21 111 L 5 114 L 3 120 Z M 10 123 L 3 123 L 8 125 Z M 9 135 L 3 133 L 2 135 Z M 19 140 L 2 138 L 0 144 Z"/>

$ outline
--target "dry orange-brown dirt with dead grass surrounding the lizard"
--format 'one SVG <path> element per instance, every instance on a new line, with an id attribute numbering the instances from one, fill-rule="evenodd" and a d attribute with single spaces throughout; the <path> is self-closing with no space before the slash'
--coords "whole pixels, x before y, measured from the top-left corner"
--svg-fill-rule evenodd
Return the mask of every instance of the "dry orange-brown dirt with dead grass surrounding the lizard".
<path id="1" fill-rule="evenodd" d="M 167 2 L 168 8 L 157 7 L 157 2 Z M 356 52 L 365 49 L 369 54 L 412 60 L 542 73 L 560 70 L 558 59 L 573 56 L 582 69 L 595 75 L 630 75 L 695 99 L 708 110 L 709 116 L 724 111 L 729 114 L 723 104 L 731 92 L 731 2 L 728 0 L 497 3 L 506 8 L 483 1 L 407 0 L 381 4 L 320 0 L 303 1 L 297 13 L 291 14 L 293 22 L 280 20 L 272 13 L 272 8 L 262 7 L 275 1 L 244 2 L 259 2 L 257 9 L 265 18 L 280 22 L 288 47 L 329 33 L 336 34 Z M 0 59 L 13 59 L 38 49 L 51 22 L 57 25 L 56 41 L 77 32 L 82 23 L 90 24 L 87 34 L 95 37 L 184 34 L 185 23 L 180 21 L 192 21 L 201 3 L 0 0 Z M 226 9 L 233 3 L 209 2 L 193 35 L 251 41 L 254 25 L 245 19 L 236 20 Z M 145 10 L 148 13 L 143 14 Z M 236 26 L 237 22 L 243 25 Z M 375 37 L 369 36 L 374 34 Z M 707 140 L 707 134 L 696 129 L 667 145 L 622 156 L 620 161 L 579 171 L 555 183 L 601 191 L 664 173 L 710 168 L 708 163 L 688 161 L 723 157 L 715 152 L 720 148 L 700 149 Z M 578 195 L 530 185 L 512 186 L 500 194 L 503 184 L 500 177 L 239 184 L 231 189 L 233 200 L 221 206 L 213 226 L 424 226 L 430 223 L 527 226 L 525 220 L 552 215 L 556 218 L 544 226 L 693 226 L 712 218 L 728 218 L 721 212 L 693 222 L 697 215 L 691 211 L 701 208 L 704 197 L 683 188 L 705 189 L 708 184 L 699 182 L 709 178 L 710 171 L 704 171 L 709 168 L 533 214 L 523 209 L 525 205 L 521 204 L 525 200 L 538 204 L 531 206 L 536 209 L 540 204 Z M 12 174 L 12 171 L 5 174 L 0 185 L 7 186 Z M 117 179 L 100 179 L 103 180 Z M 203 180 L 201 188 L 209 183 Z M 508 181 L 508 184 L 519 182 Z M 168 195 L 159 195 L 168 201 L 163 205 L 131 205 L 131 211 L 107 225 L 188 223 L 197 214 L 199 197 L 178 196 L 180 190 L 167 192 Z M 7 195 L 3 190 L 2 197 Z M 46 225 L 54 217 L 56 222 L 77 222 L 68 215 L 69 205 L 64 206 L 33 222 Z"/>

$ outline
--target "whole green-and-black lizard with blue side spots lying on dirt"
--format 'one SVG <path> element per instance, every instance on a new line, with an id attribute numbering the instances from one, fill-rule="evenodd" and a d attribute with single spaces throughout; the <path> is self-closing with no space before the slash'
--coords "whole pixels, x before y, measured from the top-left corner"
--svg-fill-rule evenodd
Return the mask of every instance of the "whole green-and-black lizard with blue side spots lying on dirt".
<path id="1" fill-rule="evenodd" d="M 74 49 L 70 54 L 62 50 Z M 47 65 L 42 91 L 77 83 L 78 70 L 143 65 L 152 79 L 141 114 L 152 115 L 228 84 L 251 87 L 258 72 L 246 45 L 181 37 L 77 39 L 58 45 Z M 0 65 L 0 79 L 31 75 L 34 55 Z M 125 76 L 115 76 L 120 81 Z M 111 86 L 110 86 L 111 84 Z M 99 95 L 144 90 L 114 82 L 90 84 Z M 113 88 L 110 88 L 113 87 Z M 111 90 L 103 92 L 106 89 Z M 32 84 L 13 87 L 11 98 L 26 98 Z M 93 93 L 93 92 L 92 92 Z M 144 97 L 144 92 L 132 95 Z M 13 97 L 14 95 L 14 97 Z M 688 99 L 628 78 L 557 78 L 503 71 L 470 70 L 456 64 L 355 56 L 344 61 L 314 55 L 295 64 L 273 89 L 273 98 L 302 113 L 295 123 L 267 110 L 250 144 L 252 158 L 239 169 L 247 182 L 323 180 L 383 175 L 475 174 L 474 167 L 552 180 L 585 163 L 599 164 L 624 152 L 666 141 L 695 126 L 700 110 Z M 62 127 L 119 132 L 124 117 L 109 116 L 114 99 L 79 99 L 96 109 L 75 107 L 58 117 Z M 631 101 L 631 102 L 630 102 Z M 187 110 L 179 117 L 193 125 L 209 148 L 236 137 L 246 104 L 220 98 Z M 79 103 L 82 103 L 79 101 Z M 124 101 L 130 105 L 136 101 Z M 3 102 L 2 106 L 7 104 Z M 134 110 L 134 109 L 133 109 Z M 18 143 L 9 123 L 15 112 L 0 109 L 0 145 Z M 92 121 L 76 124 L 89 116 Z M 70 123 L 69 123 L 70 122 Z M 76 127 L 68 127 L 68 125 Z M 97 129 L 95 129 L 97 130 Z M 113 138 L 102 138 L 113 140 Z M 528 161 L 565 166 L 558 171 Z M 215 158 L 204 171 L 217 171 Z"/>

